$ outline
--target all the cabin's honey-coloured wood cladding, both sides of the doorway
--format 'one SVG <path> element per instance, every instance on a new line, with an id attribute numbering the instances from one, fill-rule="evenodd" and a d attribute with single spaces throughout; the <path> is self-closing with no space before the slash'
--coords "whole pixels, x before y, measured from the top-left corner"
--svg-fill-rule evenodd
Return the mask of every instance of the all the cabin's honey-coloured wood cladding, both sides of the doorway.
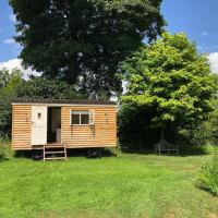
<path id="1" fill-rule="evenodd" d="M 32 106 L 15 104 L 12 114 L 12 149 L 32 149 Z M 48 106 L 40 104 L 40 106 Z M 61 106 L 62 144 L 75 147 L 117 146 L 117 108 L 112 105 L 63 105 Z M 94 125 L 71 125 L 71 110 L 94 111 Z"/>

